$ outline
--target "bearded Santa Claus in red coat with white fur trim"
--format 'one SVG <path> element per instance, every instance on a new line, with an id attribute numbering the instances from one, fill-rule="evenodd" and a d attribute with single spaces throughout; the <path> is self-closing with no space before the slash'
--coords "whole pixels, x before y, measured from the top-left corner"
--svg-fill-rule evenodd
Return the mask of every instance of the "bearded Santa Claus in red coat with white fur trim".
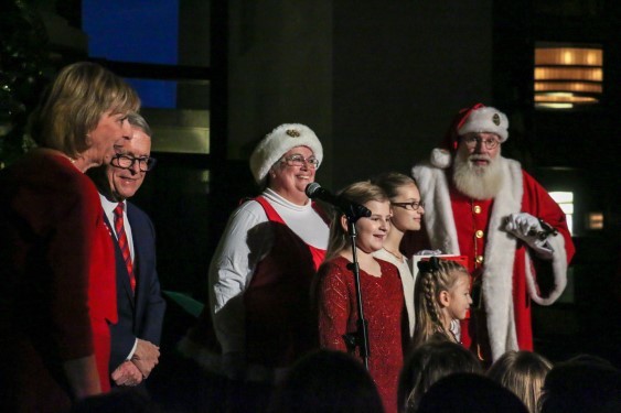
<path id="1" fill-rule="evenodd" d="M 507 350 L 533 350 L 531 304 L 554 303 L 567 284 L 575 248 L 566 217 L 546 189 L 501 155 L 508 120 L 481 104 L 462 109 L 443 149 L 415 165 L 425 200 L 419 248 L 467 256 L 474 300 L 461 339 L 492 362 Z"/>

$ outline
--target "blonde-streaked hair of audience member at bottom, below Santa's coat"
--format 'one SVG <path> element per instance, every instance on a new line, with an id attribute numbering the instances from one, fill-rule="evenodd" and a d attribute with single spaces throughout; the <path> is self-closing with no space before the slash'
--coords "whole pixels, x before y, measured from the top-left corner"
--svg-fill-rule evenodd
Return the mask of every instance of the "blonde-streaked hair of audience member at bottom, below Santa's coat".
<path id="1" fill-rule="evenodd" d="M 488 370 L 488 377 L 520 398 L 531 413 L 537 413 L 544 380 L 552 363 L 532 351 L 507 351 Z"/>

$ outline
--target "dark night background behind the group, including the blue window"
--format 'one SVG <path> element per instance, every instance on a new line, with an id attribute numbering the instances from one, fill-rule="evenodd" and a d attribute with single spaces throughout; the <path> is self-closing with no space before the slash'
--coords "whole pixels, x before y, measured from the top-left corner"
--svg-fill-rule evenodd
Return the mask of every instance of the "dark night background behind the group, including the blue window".
<path id="1" fill-rule="evenodd" d="M 548 191 L 575 196 L 570 283 L 560 302 L 535 308 L 536 350 L 621 365 L 621 2 L 2 3 L 22 3 L 2 7 L 15 15 L 34 13 L 13 25 L 17 18 L 3 12 L 3 41 L 43 22 L 46 67 L 94 59 L 139 90 L 159 163 L 135 202 L 156 224 L 164 290 L 204 300 L 226 219 L 257 191 L 248 154 L 276 126 L 301 122 L 317 132 L 325 152 L 318 182 L 335 191 L 378 172 L 409 173 L 457 110 L 481 101 L 510 118 L 503 154 Z M 598 105 L 535 109 L 539 42 L 602 47 Z M 603 229 L 588 228 L 590 213 L 603 215 Z"/>

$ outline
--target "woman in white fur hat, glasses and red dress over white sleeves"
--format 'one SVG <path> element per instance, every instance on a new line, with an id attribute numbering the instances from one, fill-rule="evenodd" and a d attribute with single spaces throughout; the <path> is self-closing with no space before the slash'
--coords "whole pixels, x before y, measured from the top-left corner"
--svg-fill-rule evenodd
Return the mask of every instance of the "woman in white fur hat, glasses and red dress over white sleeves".
<path id="1" fill-rule="evenodd" d="M 318 348 L 309 292 L 329 224 L 304 189 L 322 159 L 321 142 L 299 123 L 279 126 L 251 154 L 265 189 L 233 213 L 210 267 L 210 303 L 180 344 L 208 370 L 272 381 Z"/>

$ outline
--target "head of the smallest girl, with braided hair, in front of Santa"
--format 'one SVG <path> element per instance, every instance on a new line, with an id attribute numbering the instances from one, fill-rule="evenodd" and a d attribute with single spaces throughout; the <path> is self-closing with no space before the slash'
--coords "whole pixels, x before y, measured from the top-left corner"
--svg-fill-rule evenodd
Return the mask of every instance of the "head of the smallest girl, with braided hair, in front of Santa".
<path id="1" fill-rule="evenodd" d="M 413 346 L 416 348 L 435 335 L 459 343 L 459 334 L 451 324 L 464 319 L 472 304 L 468 270 L 456 261 L 437 257 L 420 261 L 418 267 Z"/>

